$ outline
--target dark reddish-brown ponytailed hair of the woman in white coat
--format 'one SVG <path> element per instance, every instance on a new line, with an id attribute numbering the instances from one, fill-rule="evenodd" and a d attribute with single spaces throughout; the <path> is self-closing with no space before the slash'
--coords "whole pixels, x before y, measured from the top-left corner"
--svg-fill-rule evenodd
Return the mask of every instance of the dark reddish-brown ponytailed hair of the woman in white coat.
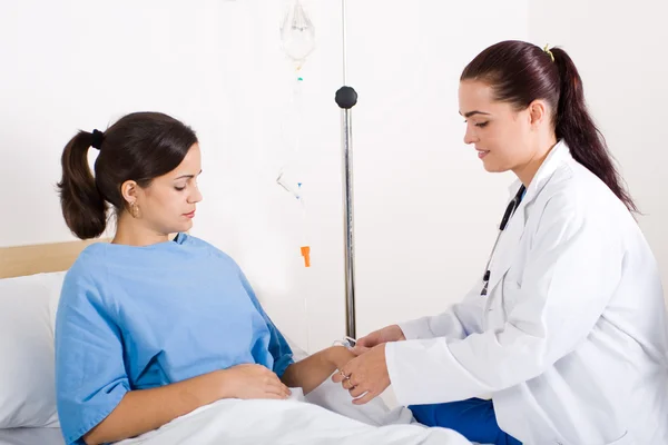
<path id="1" fill-rule="evenodd" d="M 495 100 L 512 103 L 518 110 L 537 99 L 546 100 L 556 110 L 552 125 L 557 139 L 562 139 L 572 157 L 598 176 L 630 211 L 638 211 L 606 139 L 587 110 L 582 79 L 566 51 L 502 41 L 478 55 L 464 68 L 461 80 L 487 82 Z"/>

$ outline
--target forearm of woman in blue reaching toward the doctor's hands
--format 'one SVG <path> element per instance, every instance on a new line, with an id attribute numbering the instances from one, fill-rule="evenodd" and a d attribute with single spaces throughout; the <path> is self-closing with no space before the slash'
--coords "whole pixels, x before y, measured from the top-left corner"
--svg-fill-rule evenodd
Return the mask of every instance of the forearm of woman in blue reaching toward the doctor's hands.
<path id="1" fill-rule="evenodd" d="M 353 358 L 354 354 L 345 347 L 332 346 L 289 365 L 281 379 L 288 387 L 301 387 L 308 394 Z"/>

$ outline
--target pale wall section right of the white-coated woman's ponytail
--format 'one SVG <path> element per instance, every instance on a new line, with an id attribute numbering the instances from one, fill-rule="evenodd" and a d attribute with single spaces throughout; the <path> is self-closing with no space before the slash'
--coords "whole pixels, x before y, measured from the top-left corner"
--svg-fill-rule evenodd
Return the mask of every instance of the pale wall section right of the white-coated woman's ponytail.
<path id="1" fill-rule="evenodd" d="M 529 37 L 572 57 L 595 120 L 617 158 L 668 288 L 668 3 L 563 0 L 529 3 Z"/>

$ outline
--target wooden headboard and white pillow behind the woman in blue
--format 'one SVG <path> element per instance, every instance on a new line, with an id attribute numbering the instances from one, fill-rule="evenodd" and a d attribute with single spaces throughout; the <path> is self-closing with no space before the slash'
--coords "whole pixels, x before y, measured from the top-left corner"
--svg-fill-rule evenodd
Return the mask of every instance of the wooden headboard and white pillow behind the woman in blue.
<path id="1" fill-rule="evenodd" d="M 0 248 L 0 445 L 65 444 L 45 376 L 53 373 L 59 271 L 88 244 Z"/>

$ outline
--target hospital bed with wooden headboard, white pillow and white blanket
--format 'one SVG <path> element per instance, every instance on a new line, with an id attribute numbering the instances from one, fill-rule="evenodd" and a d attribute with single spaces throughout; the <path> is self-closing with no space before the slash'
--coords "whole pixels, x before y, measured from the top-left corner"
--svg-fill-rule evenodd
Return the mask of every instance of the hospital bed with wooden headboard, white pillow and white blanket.
<path id="1" fill-rule="evenodd" d="M 65 444 L 56 412 L 53 326 L 63 270 L 90 243 L 96 241 L 0 248 L 0 445 Z M 295 359 L 306 356 L 288 343 Z M 306 398 L 278 405 L 275 400 L 219 400 L 120 444 L 471 445 L 451 431 L 415 425 L 410 412 L 406 422 L 405 408 L 387 409 L 380 398 L 374 400 L 375 407 L 371 403 L 361 408 L 342 397 L 350 395 L 326 380 Z M 267 419 L 274 421 L 274 429 Z M 385 419 L 392 421 L 390 425 Z M 292 431 L 289 425 L 295 425 Z"/>

